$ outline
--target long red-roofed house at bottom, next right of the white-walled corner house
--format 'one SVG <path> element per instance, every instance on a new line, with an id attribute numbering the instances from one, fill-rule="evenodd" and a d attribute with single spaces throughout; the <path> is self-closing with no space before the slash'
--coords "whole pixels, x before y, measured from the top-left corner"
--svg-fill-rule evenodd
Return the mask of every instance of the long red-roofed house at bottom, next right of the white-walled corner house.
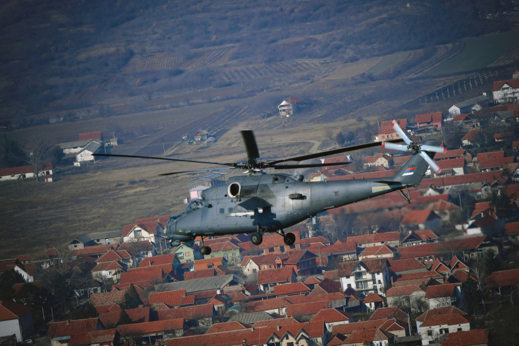
<path id="1" fill-rule="evenodd" d="M 47 337 L 52 346 L 68 346 L 72 335 L 79 332 L 101 330 L 102 326 L 97 317 L 84 320 L 67 320 L 49 323 Z"/>

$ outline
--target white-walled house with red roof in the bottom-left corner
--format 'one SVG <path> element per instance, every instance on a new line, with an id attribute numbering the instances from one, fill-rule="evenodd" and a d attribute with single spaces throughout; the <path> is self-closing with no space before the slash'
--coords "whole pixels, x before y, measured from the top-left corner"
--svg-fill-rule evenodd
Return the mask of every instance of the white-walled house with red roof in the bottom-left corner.
<path id="1" fill-rule="evenodd" d="M 0 300 L 0 337 L 16 335 L 22 342 L 34 334 L 32 308 L 27 305 Z"/>

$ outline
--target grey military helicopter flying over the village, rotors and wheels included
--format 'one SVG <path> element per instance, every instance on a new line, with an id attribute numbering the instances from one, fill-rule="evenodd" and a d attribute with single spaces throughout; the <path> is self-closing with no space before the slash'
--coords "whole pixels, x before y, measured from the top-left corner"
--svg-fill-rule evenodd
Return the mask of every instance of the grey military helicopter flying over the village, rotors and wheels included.
<path id="1" fill-rule="evenodd" d="M 251 242 L 254 245 L 260 245 L 265 232 L 277 232 L 283 237 L 284 243 L 290 246 L 295 242 L 295 235 L 285 233 L 284 229 L 315 217 L 325 210 L 392 191 L 398 191 L 407 202 L 411 203 L 408 188 L 415 187 L 420 183 L 429 166 L 434 171 L 440 170 L 432 157 L 436 152 L 445 152 L 446 148 L 440 147 L 440 141 L 438 140 L 427 140 L 424 144 L 413 143 L 395 121 L 393 121 L 393 128 L 403 139 L 405 145 L 396 143 L 401 140 L 372 142 L 268 161 L 258 161 L 260 153 L 252 130 L 240 131 L 247 151 L 247 162 L 221 163 L 168 157 L 95 155 L 151 158 L 226 166 L 176 171 L 161 174 L 162 176 L 200 170 L 243 169 L 244 176 L 231 177 L 225 185 L 203 190 L 201 198 L 190 202 L 184 212 L 171 216 L 168 221 L 165 237 L 169 239 L 171 246 L 178 246 L 181 242 L 187 246 L 193 246 L 195 237 L 199 236 L 201 238 L 200 253 L 209 255 L 211 248 L 203 245 L 203 239 L 208 236 L 248 233 L 251 234 Z M 284 173 L 264 172 L 266 168 L 279 170 L 345 165 L 344 162 L 325 164 L 284 163 L 289 161 L 301 162 L 377 145 L 386 149 L 412 151 L 413 154 L 397 174 L 391 178 L 307 182 L 304 181 L 302 175 L 293 176 Z M 407 193 L 404 194 L 402 190 L 406 190 Z"/>

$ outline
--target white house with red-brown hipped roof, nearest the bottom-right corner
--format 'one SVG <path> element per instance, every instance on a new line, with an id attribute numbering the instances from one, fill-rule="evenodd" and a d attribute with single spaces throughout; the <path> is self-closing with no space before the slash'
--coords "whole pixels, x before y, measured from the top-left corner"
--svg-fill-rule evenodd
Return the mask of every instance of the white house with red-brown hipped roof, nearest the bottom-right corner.
<path id="1" fill-rule="evenodd" d="M 420 325 L 422 345 L 428 345 L 444 334 L 470 330 L 470 321 L 459 313 L 432 315 Z"/>

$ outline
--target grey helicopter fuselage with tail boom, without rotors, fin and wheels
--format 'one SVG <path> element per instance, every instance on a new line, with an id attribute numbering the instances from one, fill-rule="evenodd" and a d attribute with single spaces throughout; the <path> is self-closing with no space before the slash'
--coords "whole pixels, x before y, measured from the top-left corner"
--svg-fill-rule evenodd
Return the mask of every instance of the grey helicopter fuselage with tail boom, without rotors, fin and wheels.
<path id="1" fill-rule="evenodd" d="M 170 220 L 167 237 L 190 241 L 199 235 L 252 233 L 258 224 L 275 232 L 327 209 L 405 188 L 376 180 L 305 182 L 303 176 L 263 172 L 232 177 L 204 190 L 181 217 Z"/>

